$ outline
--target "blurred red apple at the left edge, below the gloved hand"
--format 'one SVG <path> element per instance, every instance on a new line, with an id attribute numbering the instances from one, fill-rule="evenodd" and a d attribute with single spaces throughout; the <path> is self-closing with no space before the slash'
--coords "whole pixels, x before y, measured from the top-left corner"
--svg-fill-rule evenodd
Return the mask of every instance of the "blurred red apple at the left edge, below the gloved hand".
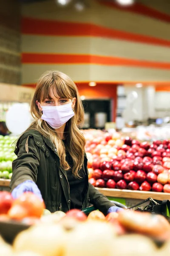
<path id="1" fill-rule="evenodd" d="M 13 198 L 11 193 L 7 191 L 0 191 L 0 214 L 7 214 L 11 208 Z"/>

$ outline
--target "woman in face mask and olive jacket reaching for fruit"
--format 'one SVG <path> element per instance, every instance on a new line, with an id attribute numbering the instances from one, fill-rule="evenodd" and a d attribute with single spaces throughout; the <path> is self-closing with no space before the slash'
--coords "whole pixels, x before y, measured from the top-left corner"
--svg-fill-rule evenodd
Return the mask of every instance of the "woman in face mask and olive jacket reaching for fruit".
<path id="1" fill-rule="evenodd" d="M 89 203 L 105 215 L 121 208 L 88 183 L 84 119 L 74 82 L 65 74 L 47 71 L 31 102 L 34 122 L 17 140 L 11 190 L 14 198 L 31 191 L 51 212 L 84 209 Z"/>

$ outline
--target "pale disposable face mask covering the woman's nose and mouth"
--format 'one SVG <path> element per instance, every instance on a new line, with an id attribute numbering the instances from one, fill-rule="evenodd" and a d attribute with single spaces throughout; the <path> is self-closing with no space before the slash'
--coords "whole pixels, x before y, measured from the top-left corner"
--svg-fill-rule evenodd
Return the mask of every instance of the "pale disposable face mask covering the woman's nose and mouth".
<path id="1" fill-rule="evenodd" d="M 73 102 L 73 101 L 72 101 Z M 41 106 L 42 116 L 41 119 L 45 120 L 48 125 L 52 128 L 57 129 L 64 125 L 72 116 L 74 116 L 74 111 L 72 110 L 72 102 L 61 105 L 61 106 Z"/>

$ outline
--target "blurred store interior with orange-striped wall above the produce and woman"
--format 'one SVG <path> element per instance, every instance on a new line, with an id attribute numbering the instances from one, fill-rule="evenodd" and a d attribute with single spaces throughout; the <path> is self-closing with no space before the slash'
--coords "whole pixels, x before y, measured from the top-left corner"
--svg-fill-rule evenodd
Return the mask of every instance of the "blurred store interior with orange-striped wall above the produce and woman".
<path id="1" fill-rule="evenodd" d="M 78 2 L 82 10 L 75 8 Z M 84 128 L 112 122 L 109 127 L 129 132 L 138 125 L 168 125 L 168 0 L 136 0 L 131 6 L 113 0 L 63 6 L 55 0 L 0 0 L 0 5 L 0 120 L 14 102 L 30 103 L 43 72 L 60 70 L 78 86 Z"/>

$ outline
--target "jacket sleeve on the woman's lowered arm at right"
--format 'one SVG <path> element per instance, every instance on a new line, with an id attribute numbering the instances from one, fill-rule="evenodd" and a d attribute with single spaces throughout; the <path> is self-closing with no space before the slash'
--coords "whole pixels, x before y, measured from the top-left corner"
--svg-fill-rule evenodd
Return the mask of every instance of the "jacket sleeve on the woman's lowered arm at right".
<path id="1" fill-rule="evenodd" d="M 107 214 L 107 211 L 111 206 L 115 206 L 115 204 L 111 203 L 111 201 L 105 195 L 95 189 L 91 183 L 89 183 L 88 192 L 90 203 L 93 204 L 96 209 L 103 212 L 104 215 Z"/>

